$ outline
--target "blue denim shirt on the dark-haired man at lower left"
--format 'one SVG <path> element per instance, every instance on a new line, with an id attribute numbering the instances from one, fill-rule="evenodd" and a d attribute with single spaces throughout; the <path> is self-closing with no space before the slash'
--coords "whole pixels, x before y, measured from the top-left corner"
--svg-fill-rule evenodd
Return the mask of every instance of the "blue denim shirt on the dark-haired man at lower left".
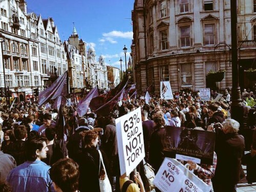
<path id="1" fill-rule="evenodd" d="M 13 192 L 55 191 L 49 169 L 50 166 L 40 160 L 26 161 L 11 170 L 7 182 Z"/>

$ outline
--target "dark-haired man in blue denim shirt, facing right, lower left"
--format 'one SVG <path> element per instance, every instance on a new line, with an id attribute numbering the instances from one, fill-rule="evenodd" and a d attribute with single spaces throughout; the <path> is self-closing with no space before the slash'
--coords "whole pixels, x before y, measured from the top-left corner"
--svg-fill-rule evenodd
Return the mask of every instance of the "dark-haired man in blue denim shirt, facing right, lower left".
<path id="1" fill-rule="evenodd" d="M 26 141 L 27 161 L 12 169 L 7 182 L 13 192 L 55 191 L 48 174 L 50 166 L 42 162 L 47 156 L 47 145 L 42 138 L 31 138 Z"/>

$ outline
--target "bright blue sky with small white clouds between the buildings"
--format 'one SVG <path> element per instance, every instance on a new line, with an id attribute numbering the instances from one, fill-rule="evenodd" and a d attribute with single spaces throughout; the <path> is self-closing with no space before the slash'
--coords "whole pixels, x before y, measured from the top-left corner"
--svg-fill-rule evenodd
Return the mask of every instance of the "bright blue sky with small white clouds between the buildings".
<path id="1" fill-rule="evenodd" d="M 79 38 L 102 54 L 106 65 L 120 68 L 123 47 L 126 46 L 127 62 L 133 38 L 133 0 L 26 0 L 28 12 L 41 14 L 42 18 L 53 17 L 62 41 L 73 32 L 73 22 Z"/>

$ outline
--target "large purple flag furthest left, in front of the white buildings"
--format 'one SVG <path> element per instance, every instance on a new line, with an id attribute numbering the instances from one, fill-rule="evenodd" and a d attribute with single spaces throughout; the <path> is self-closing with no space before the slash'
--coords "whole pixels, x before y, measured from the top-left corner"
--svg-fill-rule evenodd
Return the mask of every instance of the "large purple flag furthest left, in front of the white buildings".
<path id="1" fill-rule="evenodd" d="M 56 99 L 58 96 L 67 94 L 67 71 L 54 81 L 51 87 L 39 93 L 39 106 L 50 99 Z"/>

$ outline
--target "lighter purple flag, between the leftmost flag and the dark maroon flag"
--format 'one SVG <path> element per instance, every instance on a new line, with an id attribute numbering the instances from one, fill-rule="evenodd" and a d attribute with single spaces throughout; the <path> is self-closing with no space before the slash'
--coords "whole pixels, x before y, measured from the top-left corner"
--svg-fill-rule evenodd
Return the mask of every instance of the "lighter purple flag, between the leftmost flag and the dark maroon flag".
<path id="1" fill-rule="evenodd" d="M 98 88 L 97 86 L 95 88 L 93 88 L 89 93 L 88 95 L 81 99 L 79 101 L 79 103 L 77 104 L 76 106 L 76 111 L 78 113 L 78 115 L 81 117 L 82 115 L 86 114 L 88 108 L 89 108 L 89 104 L 91 102 L 91 100 L 94 98 L 94 97 L 97 97 L 99 95 L 98 93 Z"/>

